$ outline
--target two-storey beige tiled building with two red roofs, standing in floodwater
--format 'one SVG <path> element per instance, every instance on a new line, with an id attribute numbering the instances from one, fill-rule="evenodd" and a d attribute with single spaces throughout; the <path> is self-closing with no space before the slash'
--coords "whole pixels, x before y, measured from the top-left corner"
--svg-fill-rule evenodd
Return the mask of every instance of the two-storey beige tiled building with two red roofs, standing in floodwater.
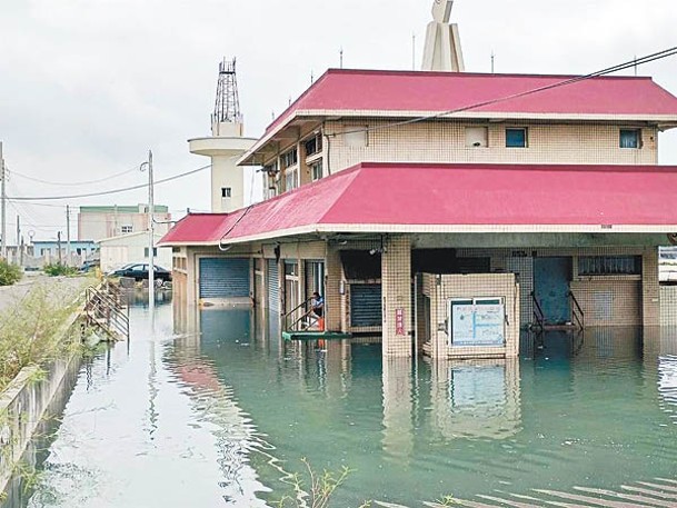
<path id="1" fill-rule="evenodd" d="M 677 168 L 657 148 L 676 126 L 650 78 L 329 70 L 240 159 L 268 199 L 165 237 L 177 297 L 291 326 L 318 291 L 328 330 L 382 335 L 386 356 L 658 326 Z"/>

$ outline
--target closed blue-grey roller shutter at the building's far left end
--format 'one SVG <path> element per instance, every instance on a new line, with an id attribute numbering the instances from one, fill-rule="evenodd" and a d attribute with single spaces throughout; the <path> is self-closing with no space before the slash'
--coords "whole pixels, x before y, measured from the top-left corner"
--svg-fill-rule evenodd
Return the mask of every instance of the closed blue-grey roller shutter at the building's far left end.
<path id="1" fill-rule="evenodd" d="M 249 297 L 249 259 L 200 259 L 200 298 Z"/>

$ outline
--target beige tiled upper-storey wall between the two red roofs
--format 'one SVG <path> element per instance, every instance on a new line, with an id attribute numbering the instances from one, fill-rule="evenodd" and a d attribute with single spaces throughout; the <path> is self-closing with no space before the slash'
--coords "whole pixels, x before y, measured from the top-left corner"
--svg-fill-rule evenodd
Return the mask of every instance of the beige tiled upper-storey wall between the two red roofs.
<path id="1" fill-rule="evenodd" d="M 359 162 L 487 162 L 656 165 L 656 129 L 643 129 L 641 149 L 619 148 L 619 126 L 489 123 L 487 148 L 467 148 L 468 121 L 428 121 L 381 129 L 386 122 L 329 122 L 331 146 L 326 149 L 331 172 Z M 349 146 L 341 132 L 369 127 L 366 147 Z M 506 127 L 528 129 L 527 148 L 506 148 Z M 633 126 L 624 126 L 633 127 Z"/>

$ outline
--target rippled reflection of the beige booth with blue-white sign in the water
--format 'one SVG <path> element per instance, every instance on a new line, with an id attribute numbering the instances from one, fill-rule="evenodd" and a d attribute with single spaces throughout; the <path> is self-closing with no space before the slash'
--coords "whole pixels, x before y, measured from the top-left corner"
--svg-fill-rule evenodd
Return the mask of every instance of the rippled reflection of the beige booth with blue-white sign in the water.
<path id="1" fill-rule="evenodd" d="M 445 438 L 505 439 L 521 426 L 519 361 L 437 361 L 431 408 Z"/>

